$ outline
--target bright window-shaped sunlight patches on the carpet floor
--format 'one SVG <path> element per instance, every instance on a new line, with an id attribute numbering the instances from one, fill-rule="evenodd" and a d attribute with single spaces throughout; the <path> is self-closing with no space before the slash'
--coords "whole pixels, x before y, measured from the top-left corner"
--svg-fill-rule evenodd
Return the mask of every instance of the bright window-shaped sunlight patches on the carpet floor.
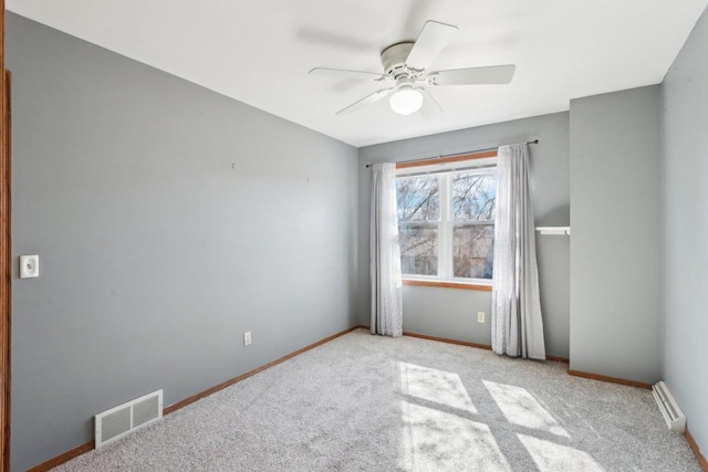
<path id="1" fill-rule="evenodd" d="M 490 426 L 472 420 L 479 413 L 459 375 L 409 363 L 398 363 L 398 373 L 404 396 L 400 468 L 512 470 Z M 483 379 L 481 382 L 509 423 L 570 438 L 525 388 Z M 516 437 L 539 471 L 603 471 L 584 451 L 529 434 Z"/>

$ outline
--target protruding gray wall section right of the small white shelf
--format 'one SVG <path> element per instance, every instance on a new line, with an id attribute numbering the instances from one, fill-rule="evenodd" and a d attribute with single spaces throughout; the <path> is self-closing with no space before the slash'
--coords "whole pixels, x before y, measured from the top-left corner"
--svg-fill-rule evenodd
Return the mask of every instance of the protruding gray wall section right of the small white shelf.
<path id="1" fill-rule="evenodd" d="M 662 355 L 659 86 L 571 102 L 571 368 L 653 382 Z"/>

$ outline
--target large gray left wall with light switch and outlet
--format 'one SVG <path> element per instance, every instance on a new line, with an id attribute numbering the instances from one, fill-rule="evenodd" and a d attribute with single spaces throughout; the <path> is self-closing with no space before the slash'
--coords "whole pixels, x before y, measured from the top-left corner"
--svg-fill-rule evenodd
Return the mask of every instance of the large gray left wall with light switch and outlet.
<path id="1" fill-rule="evenodd" d="M 13 255 L 41 268 L 13 279 L 12 470 L 90 441 L 107 408 L 174 403 L 357 323 L 356 149 L 7 29 Z"/>

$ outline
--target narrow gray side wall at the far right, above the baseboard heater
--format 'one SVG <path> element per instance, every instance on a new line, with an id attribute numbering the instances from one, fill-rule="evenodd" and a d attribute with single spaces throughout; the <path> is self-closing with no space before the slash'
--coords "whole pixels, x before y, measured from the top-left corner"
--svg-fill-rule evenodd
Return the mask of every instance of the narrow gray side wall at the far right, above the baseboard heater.
<path id="1" fill-rule="evenodd" d="M 663 84 L 664 377 L 708 453 L 708 12 Z"/>

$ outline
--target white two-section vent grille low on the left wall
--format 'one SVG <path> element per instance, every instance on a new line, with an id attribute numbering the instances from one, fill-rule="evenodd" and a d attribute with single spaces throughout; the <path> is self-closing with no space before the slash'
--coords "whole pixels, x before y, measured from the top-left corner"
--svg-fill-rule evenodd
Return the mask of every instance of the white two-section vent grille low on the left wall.
<path id="1" fill-rule="evenodd" d="M 163 418 L 163 390 L 95 416 L 96 449 Z"/>

